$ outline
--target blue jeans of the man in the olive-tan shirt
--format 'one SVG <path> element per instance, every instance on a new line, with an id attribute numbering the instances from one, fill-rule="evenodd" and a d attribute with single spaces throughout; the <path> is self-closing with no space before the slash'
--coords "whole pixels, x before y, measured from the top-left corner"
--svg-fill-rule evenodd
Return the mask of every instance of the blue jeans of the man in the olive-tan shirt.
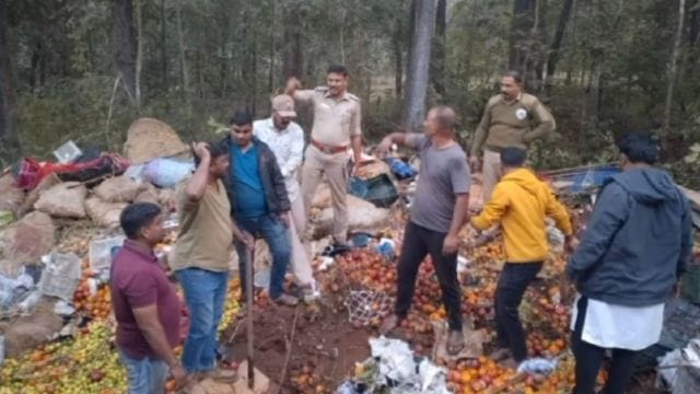
<path id="1" fill-rule="evenodd" d="M 175 275 L 185 290 L 185 303 L 189 310 L 183 367 L 188 373 L 209 371 L 217 361 L 217 329 L 226 300 L 229 271 L 185 268 Z"/>

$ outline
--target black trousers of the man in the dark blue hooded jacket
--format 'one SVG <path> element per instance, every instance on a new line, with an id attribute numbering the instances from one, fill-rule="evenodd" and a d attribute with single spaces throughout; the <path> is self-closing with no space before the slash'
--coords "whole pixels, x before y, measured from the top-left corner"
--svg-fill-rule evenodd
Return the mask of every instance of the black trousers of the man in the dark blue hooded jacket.
<path id="1" fill-rule="evenodd" d="M 573 390 L 574 394 L 593 394 L 595 392 L 595 382 L 605 356 L 605 348 L 588 344 L 581 339 L 583 324 L 585 322 L 586 309 L 588 308 L 588 299 L 581 297 L 576 304 L 579 314 L 576 315 L 576 324 L 571 335 L 571 349 L 576 358 L 576 385 Z M 611 349 L 612 366 L 608 374 L 608 381 L 605 384 L 603 393 L 605 394 L 622 394 L 632 379 L 634 371 L 634 356 L 637 351 L 627 349 Z"/>

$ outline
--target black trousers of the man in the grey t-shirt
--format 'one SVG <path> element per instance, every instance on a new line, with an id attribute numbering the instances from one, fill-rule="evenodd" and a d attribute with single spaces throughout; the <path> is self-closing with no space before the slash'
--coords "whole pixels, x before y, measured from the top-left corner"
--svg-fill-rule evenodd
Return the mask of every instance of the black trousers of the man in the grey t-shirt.
<path id="1" fill-rule="evenodd" d="M 411 221 L 406 224 L 401 256 L 398 260 L 398 282 L 395 313 L 400 318 L 408 315 L 416 291 L 418 268 L 430 254 L 442 289 L 442 300 L 447 311 L 450 329 L 462 331 L 462 293 L 457 279 L 457 254 L 443 255 L 446 233 L 422 228 Z"/>

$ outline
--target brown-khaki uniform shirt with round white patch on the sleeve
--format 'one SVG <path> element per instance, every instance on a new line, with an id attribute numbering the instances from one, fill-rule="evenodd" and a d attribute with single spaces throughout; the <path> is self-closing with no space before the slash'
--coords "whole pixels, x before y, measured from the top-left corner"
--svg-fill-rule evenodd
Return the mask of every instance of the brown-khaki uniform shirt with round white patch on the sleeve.
<path id="1" fill-rule="evenodd" d="M 505 102 L 500 94 L 494 95 L 483 111 L 471 155 L 477 155 L 482 147 L 493 151 L 509 147 L 525 149 L 556 127 L 551 113 L 534 95 L 521 93 L 512 102 Z"/>

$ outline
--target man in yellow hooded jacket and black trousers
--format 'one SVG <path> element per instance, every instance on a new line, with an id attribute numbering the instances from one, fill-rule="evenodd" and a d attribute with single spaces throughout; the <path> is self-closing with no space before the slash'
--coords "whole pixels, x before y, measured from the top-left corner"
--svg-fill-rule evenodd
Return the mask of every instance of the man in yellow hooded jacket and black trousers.
<path id="1" fill-rule="evenodd" d="M 499 350 L 491 357 L 504 360 L 511 367 L 527 358 L 517 308 L 549 252 L 546 217 L 551 217 L 567 235 L 568 245 L 573 242 L 567 209 L 544 182 L 523 167 L 525 160 L 523 149 L 505 148 L 501 151 L 503 177 L 481 215 L 471 218 L 471 225 L 477 230 L 482 231 L 500 222 L 503 231 L 506 263 L 495 289 L 494 305 Z"/>

